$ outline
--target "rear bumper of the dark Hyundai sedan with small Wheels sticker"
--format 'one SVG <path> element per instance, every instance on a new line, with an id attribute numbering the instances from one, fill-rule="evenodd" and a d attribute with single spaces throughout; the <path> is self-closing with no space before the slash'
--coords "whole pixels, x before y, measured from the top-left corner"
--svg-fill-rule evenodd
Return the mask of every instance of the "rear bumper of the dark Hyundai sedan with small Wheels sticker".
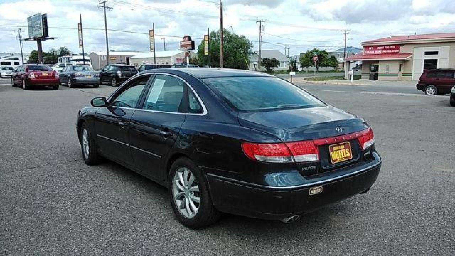
<path id="1" fill-rule="evenodd" d="M 377 157 L 379 158 L 379 155 Z M 379 161 L 355 170 L 349 176 L 298 188 L 264 188 L 213 174 L 207 174 L 207 180 L 212 202 L 218 210 L 253 218 L 278 220 L 303 215 L 362 193 L 374 184 L 380 169 L 379 158 Z M 322 193 L 310 195 L 310 189 L 318 186 L 322 187 Z"/>

